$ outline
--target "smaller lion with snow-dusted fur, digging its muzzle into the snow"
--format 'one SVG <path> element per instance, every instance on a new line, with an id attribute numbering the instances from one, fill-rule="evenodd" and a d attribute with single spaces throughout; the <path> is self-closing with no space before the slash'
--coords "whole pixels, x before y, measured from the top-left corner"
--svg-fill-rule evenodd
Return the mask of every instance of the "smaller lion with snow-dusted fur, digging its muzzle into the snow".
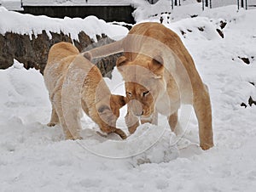
<path id="1" fill-rule="evenodd" d="M 69 42 L 49 49 L 44 82 L 52 105 L 49 127 L 61 123 L 66 139 L 81 138 L 81 108 L 104 133 L 126 134 L 115 127 L 125 97 L 110 93 L 96 65 L 85 59 Z"/>

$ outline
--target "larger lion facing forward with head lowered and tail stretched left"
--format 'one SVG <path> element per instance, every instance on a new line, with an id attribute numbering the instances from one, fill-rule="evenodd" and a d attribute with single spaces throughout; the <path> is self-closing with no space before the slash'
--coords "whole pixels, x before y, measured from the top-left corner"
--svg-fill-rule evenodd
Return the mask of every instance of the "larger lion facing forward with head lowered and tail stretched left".
<path id="1" fill-rule="evenodd" d="M 129 132 L 136 131 L 139 120 L 157 124 L 158 113 L 167 116 L 172 131 L 176 131 L 178 109 L 181 104 L 192 104 L 201 149 L 210 149 L 213 133 L 208 88 L 177 34 L 159 23 L 141 23 L 123 39 L 83 55 L 92 59 L 121 52 L 124 56 L 116 65 L 125 81 Z"/>

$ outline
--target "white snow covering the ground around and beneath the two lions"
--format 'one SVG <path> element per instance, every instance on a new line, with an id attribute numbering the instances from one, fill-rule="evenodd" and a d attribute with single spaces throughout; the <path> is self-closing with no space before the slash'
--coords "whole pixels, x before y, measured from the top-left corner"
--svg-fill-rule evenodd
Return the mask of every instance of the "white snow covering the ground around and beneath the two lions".
<path id="1" fill-rule="evenodd" d="M 145 124 L 127 141 L 115 135 L 106 139 L 95 134 L 95 124 L 84 116 L 84 139 L 64 140 L 61 127 L 46 126 L 50 104 L 43 76 L 33 69 L 26 71 L 15 61 L 9 69 L 0 70 L 0 190 L 255 191 L 256 105 L 249 106 L 248 99 L 256 100 L 256 10 L 237 12 L 234 5 L 201 13 L 196 6 L 184 6 L 180 15 L 173 15 L 169 23 L 164 20 L 164 24 L 183 39 L 209 87 L 215 141 L 211 150 L 198 147 L 194 113 L 183 127 L 182 138 L 173 135 L 160 116 L 159 126 Z M 194 14 L 192 9 L 198 17 L 183 16 Z M 1 32 L 14 30 L 11 25 L 2 25 L 4 16 L 14 23 L 24 20 L 20 14 L 12 20 L 15 14 L 3 9 L 0 14 Z M 26 16 L 33 21 L 31 25 L 42 20 Z M 158 19 L 144 14 L 144 20 Z M 227 22 L 224 38 L 216 31 L 221 20 Z M 49 25 L 55 22 L 47 21 Z M 69 24 L 72 22 L 77 21 Z M 114 31 L 116 36 L 127 32 L 96 22 L 102 31 L 109 31 L 105 25 L 114 29 L 110 30 L 113 36 Z M 26 30 L 31 27 L 20 32 Z M 250 64 L 240 58 L 249 59 Z M 113 92 L 123 92 L 117 71 L 106 82 Z M 125 109 L 119 127 L 125 127 L 124 115 Z M 181 116 L 181 121 L 186 117 Z"/>

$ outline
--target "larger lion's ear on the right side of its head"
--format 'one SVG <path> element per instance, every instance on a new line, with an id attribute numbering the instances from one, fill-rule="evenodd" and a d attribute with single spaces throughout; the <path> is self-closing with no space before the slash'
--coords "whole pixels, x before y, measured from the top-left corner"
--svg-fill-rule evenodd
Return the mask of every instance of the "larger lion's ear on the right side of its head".
<path id="1" fill-rule="evenodd" d="M 155 56 L 149 64 L 149 69 L 156 75 L 156 78 L 160 78 L 164 75 L 164 59 L 160 55 Z"/>

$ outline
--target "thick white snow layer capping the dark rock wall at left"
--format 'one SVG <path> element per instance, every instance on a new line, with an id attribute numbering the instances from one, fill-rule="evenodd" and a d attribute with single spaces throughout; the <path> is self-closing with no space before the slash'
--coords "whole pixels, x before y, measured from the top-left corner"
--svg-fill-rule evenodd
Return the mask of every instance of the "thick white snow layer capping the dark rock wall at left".
<path id="1" fill-rule="evenodd" d="M 80 31 L 84 31 L 90 38 L 96 41 L 96 35 L 106 34 L 108 37 L 118 40 L 124 37 L 128 30 L 120 25 L 112 25 L 104 20 L 99 20 L 96 16 L 88 16 L 84 19 L 69 18 L 55 19 L 44 15 L 34 16 L 32 14 L 20 14 L 8 11 L 0 7 L 0 33 L 15 32 L 18 34 L 32 34 L 37 36 L 45 30 L 51 38 L 49 31 L 70 34 L 72 39 L 78 40 Z"/>

